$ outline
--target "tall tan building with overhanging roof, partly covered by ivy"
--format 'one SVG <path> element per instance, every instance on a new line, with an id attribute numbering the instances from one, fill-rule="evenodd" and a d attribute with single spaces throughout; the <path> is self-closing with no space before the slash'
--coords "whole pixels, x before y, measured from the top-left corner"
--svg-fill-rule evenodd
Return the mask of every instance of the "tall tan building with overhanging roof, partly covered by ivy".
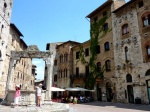
<path id="1" fill-rule="evenodd" d="M 89 15 L 90 24 L 97 22 L 101 18 L 108 16 L 106 23 L 103 25 L 103 30 L 112 29 L 112 14 L 111 12 L 122 6 L 124 0 L 107 0 Z M 113 32 L 110 30 L 104 37 L 99 39 L 99 53 L 95 63 L 97 67 L 102 68 L 105 66 L 104 79 L 97 79 L 95 85 L 94 99 L 100 101 L 112 101 L 112 93 L 116 93 L 114 82 L 114 47 L 113 47 Z M 84 67 L 85 68 L 85 67 Z"/>

